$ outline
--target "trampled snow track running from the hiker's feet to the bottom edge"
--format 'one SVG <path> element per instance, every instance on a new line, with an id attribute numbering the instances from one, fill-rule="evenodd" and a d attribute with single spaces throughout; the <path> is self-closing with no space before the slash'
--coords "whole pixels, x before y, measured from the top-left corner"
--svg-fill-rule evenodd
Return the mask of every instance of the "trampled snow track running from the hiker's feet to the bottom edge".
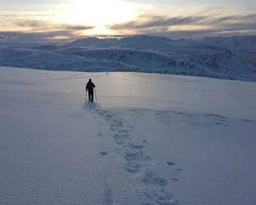
<path id="1" fill-rule="evenodd" d="M 145 141 L 142 144 L 135 144 L 131 139 L 130 132 L 133 131 L 134 127 L 126 127 L 121 118 L 113 116 L 112 112 L 101 110 L 95 103 L 89 103 L 89 108 L 94 113 L 95 118 L 98 115 L 101 118 L 99 121 L 103 121 L 99 122 L 100 131 L 98 136 L 102 138 L 108 135 L 118 145 L 115 148 L 115 153 L 120 154 L 126 160 L 125 171 L 130 174 L 138 174 L 141 170 L 144 170 L 141 171 L 140 175 L 130 178 L 130 180 L 134 180 L 133 184 L 138 183 L 138 181 L 141 182 L 141 185 L 133 185 L 131 188 L 136 190 L 135 193 L 141 204 L 179 204 L 177 198 L 167 189 L 164 189 L 167 185 L 167 179 L 159 176 L 157 172 L 151 171 L 153 168 L 150 166 L 152 158 L 144 151 L 144 147 L 147 146 Z M 103 131 L 103 125 L 106 125 L 106 123 L 109 127 L 107 129 L 105 126 Z M 105 133 L 104 136 L 102 133 Z M 105 148 L 103 148 L 101 154 L 107 155 Z M 109 200 L 107 201 L 109 202 Z"/>

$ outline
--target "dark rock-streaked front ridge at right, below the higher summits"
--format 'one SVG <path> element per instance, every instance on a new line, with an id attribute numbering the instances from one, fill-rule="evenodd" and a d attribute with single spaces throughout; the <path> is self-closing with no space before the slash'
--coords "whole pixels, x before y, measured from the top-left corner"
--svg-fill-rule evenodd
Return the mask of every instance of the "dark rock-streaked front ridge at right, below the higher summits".
<path id="1" fill-rule="evenodd" d="M 184 49 L 184 48 L 183 48 Z M 144 51 L 128 48 L 105 48 L 75 52 L 82 57 L 105 59 L 139 66 L 152 72 L 178 75 L 199 75 L 224 79 L 237 79 L 254 75 L 254 66 L 222 48 L 205 47 L 201 52 L 177 49 L 170 52 Z M 175 49 L 174 49 L 175 50 Z M 240 77 L 239 77 L 240 76 Z"/>

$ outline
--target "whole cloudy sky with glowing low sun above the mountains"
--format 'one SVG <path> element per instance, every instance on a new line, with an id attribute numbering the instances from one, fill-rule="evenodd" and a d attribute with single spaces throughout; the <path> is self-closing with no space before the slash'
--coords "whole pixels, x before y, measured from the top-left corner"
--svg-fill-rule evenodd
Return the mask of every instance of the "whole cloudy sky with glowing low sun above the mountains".
<path id="1" fill-rule="evenodd" d="M 0 0 L 0 40 L 256 34 L 255 0 Z"/>

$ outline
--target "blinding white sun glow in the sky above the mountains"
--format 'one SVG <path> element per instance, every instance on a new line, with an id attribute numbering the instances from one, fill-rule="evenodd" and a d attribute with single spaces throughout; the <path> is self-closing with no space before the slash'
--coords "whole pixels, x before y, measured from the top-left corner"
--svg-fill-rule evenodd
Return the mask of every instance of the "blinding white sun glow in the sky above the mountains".
<path id="1" fill-rule="evenodd" d="M 138 8 L 139 4 L 116 0 L 77 0 L 55 16 L 53 20 L 67 24 L 94 25 L 95 29 L 93 31 L 87 31 L 91 34 L 113 34 L 112 31 L 107 31 L 104 25 L 134 19 Z"/>

